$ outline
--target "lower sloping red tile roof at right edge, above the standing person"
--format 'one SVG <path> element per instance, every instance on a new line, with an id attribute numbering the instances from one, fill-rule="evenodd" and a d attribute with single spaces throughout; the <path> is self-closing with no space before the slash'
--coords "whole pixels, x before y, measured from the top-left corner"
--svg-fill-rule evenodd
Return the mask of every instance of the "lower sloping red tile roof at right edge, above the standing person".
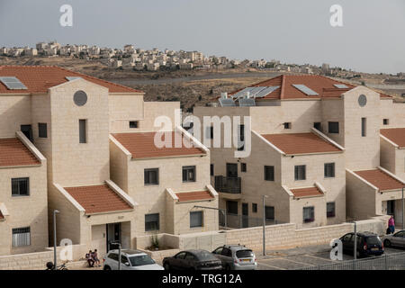
<path id="1" fill-rule="evenodd" d="M 405 186 L 405 184 L 402 184 L 381 169 L 355 171 L 355 173 L 365 179 L 365 181 L 374 184 L 380 191 L 396 190 Z"/>

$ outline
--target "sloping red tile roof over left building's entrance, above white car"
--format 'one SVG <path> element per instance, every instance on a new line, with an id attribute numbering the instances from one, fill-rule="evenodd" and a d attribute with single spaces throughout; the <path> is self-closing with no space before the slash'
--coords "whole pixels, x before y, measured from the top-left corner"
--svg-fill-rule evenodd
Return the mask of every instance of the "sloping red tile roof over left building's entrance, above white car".
<path id="1" fill-rule="evenodd" d="M 67 187 L 65 190 L 85 208 L 86 214 L 132 210 L 130 204 L 107 184 Z"/>

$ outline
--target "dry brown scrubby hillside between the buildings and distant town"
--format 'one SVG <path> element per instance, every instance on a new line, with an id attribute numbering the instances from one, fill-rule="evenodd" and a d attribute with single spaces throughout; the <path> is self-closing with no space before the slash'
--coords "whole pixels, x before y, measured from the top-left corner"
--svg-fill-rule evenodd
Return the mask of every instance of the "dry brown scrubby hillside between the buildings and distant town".
<path id="1" fill-rule="evenodd" d="M 0 57 L 0 65 L 55 65 L 65 67 L 86 75 L 96 76 L 105 80 L 142 90 L 145 92 L 146 101 L 180 101 L 184 112 L 192 112 L 194 105 L 205 105 L 211 99 L 218 96 L 220 92 L 231 92 L 247 85 L 263 81 L 264 77 L 244 76 L 232 78 L 214 78 L 210 80 L 186 81 L 154 81 L 159 79 L 184 78 L 190 76 L 204 76 L 212 74 L 231 74 L 240 72 L 257 72 L 255 69 L 226 69 L 214 71 L 201 70 L 175 70 L 175 71 L 131 71 L 120 68 L 105 67 L 96 60 L 85 60 L 80 58 L 6 58 Z M 366 83 L 383 84 L 386 76 L 378 74 L 364 74 L 361 81 Z M 142 84 L 139 84 L 141 80 Z M 144 81 L 145 80 L 145 81 Z M 151 80 L 150 82 L 148 80 Z M 133 81 L 133 82 L 132 82 Z M 392 84 L 392 83 L 390 83 Z M 401 91 L 383 91 L 395 96 L 396 101 L 402 102 Z M 405 92 L 405 91 L 404 91 Z"/>

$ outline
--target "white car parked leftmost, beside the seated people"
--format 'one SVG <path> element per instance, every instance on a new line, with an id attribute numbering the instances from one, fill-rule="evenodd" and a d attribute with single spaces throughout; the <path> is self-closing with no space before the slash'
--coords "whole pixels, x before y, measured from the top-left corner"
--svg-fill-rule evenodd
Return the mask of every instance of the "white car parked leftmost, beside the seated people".
<path id="1" fill-rule="evenodd" d="M 118 250 L 109 251 L 103 257 L 103 270 L 118 270 Z M 121 250 L 121 270 L 164 270 L 148 254 L 139 250 Z"/>

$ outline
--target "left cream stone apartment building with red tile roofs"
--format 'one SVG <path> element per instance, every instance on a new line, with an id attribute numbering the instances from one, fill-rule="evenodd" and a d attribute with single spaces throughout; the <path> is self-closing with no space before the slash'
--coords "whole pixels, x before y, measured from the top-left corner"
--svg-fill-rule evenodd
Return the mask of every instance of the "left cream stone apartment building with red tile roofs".
<path id="1" fill-rule="evenodd" d="M 0 67 L 0 255 L 51 245 L 54 210 L 58 243 L 102 255 L 112 242 L 218 229 L 218 211 L 195 207 L 218 208 L 210 151 L 176 109 L 60 67 Z M 163 134 L 159 116 L 171 121 Z"/>

